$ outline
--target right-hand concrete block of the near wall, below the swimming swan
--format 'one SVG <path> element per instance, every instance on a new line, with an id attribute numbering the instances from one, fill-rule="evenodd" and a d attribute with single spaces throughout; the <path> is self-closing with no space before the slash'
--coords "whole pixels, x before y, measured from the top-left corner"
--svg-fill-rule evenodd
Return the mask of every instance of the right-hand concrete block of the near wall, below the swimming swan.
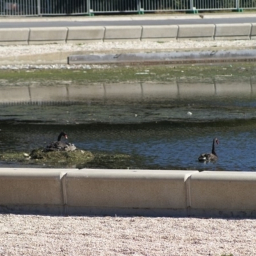
<path id="1" fill-rule="evenodd" d="M 189 188 L 191 216 L 256 216 L 256 173 L 193 173 Z"/>

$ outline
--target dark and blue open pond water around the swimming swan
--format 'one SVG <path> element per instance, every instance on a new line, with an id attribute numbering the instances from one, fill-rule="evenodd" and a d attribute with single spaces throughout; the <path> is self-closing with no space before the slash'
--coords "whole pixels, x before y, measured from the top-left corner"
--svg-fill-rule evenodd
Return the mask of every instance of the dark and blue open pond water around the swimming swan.
<path id="1" fill-rule="evenodd" d="M 142 157 L 127 168 L 254 172 L 256 93 L 252 85 L 249 89 L 248 84 L 239 86 L 235 88 L 241 90 L 216 93 L 215 88 L 214 93 L 203 95 L 180 94 L 179 90 L 175 97 L 163 91 L 147 99 L 117 96 L 58 104 L 5 102 L 0 108 L 0 153 L 30 152 L 65 131 L 77 148 Z M 223 84 L 223 88 L 232 86 Z M 211 152 L 214 137 L 220 140 L 218 161 L 198 163 L 201 153 Z M 0 163 L 3 166 L 19 163 Z"/>

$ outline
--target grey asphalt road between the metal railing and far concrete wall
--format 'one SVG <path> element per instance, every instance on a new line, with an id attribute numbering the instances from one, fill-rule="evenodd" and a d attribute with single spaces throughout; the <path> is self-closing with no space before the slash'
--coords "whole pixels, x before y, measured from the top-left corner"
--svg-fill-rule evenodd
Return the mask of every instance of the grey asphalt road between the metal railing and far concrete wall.
<path id="1" fill-rule="evenodd" d="M 70 27 L 70 26 L 157 26 L 157 25 L 182 25 L 182 24 L 241 24 L 256 23 L 255 17 L 228 17 L 211 19 L 147 19 L 147 20 L 52 20 L 52 21 L 12 21 L 1 20 L 0 28 L 40 28 L 40 27 Z"/>

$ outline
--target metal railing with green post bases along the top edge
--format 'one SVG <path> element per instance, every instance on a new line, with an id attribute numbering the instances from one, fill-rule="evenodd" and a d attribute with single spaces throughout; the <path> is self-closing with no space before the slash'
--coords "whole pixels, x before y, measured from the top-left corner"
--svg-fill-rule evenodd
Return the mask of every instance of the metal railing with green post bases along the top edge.
<path id="1" fill-rule="evenodd" d="M 0 15 L 94 15 L 256 9 L 256 0 L 0 0 Z"/>

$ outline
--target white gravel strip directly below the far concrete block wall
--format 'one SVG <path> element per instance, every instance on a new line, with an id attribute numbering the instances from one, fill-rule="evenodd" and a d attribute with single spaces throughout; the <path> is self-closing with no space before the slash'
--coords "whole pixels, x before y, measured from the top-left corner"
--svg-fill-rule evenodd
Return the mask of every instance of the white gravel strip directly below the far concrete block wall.
<path id="1" fill-rule="evenodd" d="M 45 45 L 10 45 L 0 46 L 0 57 L 17 55 L 45 54 L 51 52 L 108 52 L 113 50 L 125 51 L 174 51 L 177 49 L 207 49 L 207 48 L 246 48 L 256 47 L 256 40 L 173 40 L 168 42 L 94 42 L 87 44 L 45 44 Z"/>

